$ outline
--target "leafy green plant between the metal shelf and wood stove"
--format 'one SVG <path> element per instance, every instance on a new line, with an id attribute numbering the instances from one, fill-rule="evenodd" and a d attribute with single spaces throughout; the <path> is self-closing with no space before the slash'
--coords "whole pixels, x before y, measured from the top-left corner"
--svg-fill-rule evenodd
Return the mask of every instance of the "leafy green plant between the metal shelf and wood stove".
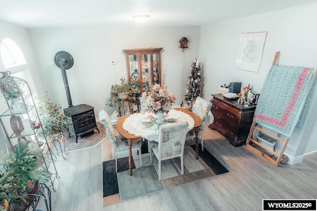
<path id="1" fill-rule="evenodd" d="M 38 130 L 38 136 L 44 139 L 44 135 L 52 136 L 58 133 L 67 131 L 71 126 L 68 117 L 60 111 L 61 106 L 59 103 L 51 102 L 51 99 L 47 97 L 38 97 L 38 111 L 44 133 L 42 130 Z"/>

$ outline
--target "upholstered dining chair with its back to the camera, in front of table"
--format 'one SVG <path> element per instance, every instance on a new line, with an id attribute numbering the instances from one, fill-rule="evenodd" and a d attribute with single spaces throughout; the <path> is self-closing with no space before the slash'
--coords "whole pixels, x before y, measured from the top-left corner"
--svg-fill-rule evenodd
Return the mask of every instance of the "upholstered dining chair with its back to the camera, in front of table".
<path id="1" fill-rule="evenodd" d="M 161 179 L 161 161 L 180 157 L 181 173 L 184 174 L 184 145 L 188 123 L 178 122 L 159 126 L 159 142 L 150 142 L 150 161 L 152 152 L 159 161 L 159 180 Z"/>

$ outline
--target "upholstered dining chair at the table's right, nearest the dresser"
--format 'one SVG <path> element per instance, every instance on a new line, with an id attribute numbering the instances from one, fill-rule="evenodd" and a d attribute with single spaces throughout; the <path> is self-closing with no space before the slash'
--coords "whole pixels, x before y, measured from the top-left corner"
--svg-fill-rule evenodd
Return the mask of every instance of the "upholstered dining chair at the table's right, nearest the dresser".
<path id="1" fill-rule="evenodd" d="M 202 150 L 204 151 L 204 139 L 203 139 L 203 132 L 204 126 L 207 120 L 208 112 L 210 111 L 212 103 L 208 100 L 205 100 L 202 97 L 197 97 L 195 103 L 192 108 L 192 112 L 195 113 L 197 116 L 200 117 L 203 124 L 199 127 L 198 138 L 201 140 L 202 143 Z M 189 131 L 186 135 L 186 140 L 193 140 L 196 138 L 195 132 Z"/>

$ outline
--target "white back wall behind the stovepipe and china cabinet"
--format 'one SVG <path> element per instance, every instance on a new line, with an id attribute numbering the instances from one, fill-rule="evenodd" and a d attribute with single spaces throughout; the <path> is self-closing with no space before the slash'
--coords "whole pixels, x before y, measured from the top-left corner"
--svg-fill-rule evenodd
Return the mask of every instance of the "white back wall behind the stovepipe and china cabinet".
<path id="1" fill-rule="evenodd" d="M 123 49 L 163 47 L 161 70 L 167 64 L 168 91 L 177 95 L 179 105 L 187 72 L 198 57 L 200 39 L 200 27 L 41 28 L 29 29 L 29 33 L 44 79 L 42 92 L 48 90 L 53 101 L 68 107 L 61 70 L 53 62 L 54 54 L 64 50 L 74 58 L 73 67 L 66 70 L 73 105 L 86 103 L 95 107 L 95 113 L 102 108 L 109 114 L 114 108 L 105 106 L 103 99 L 108 97 L 111 85 L 127 78 Z M 182 37 L 189 40 L 184 52 L 178 47 Z M 117 64 L 110 65 L 110 60 Z"/>

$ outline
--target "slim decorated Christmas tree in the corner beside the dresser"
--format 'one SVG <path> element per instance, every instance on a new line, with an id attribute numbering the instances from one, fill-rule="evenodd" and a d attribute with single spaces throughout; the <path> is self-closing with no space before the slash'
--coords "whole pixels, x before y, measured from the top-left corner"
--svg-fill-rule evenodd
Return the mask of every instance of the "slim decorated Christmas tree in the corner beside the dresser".
<path id="1" fill-rule="evenodd" d="M 189 82 L 187 84 L 186 89 L 186 95 L 185 101 L 188 105 L 193 105 L 196 98 L 200 96 L 201 94 L 201 75 L 200 75 L 200 64 L 198 62 L 198 59 L 195 58 L 195 60 L 192 62 L 192 69 L 188 76 Z"/>

